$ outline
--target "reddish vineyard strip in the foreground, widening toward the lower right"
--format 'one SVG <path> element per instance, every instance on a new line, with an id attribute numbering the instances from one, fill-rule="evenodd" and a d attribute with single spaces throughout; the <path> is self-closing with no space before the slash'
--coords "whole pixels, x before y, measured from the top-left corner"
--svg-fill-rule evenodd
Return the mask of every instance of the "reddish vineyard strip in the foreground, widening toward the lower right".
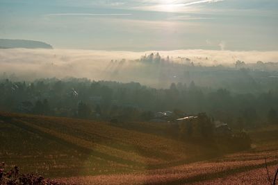
<path id="1" fill-rule="evenodd" d="M 265 159 L 273 179 L 278 168 L 278 125 L 252 130 L 250 135 L 254 141 L 252 150 L 215 159 L 142 173 L 58 180 L 69 184 L 130 184 L 131 179 L 132 184 L 269 184 Z"/>

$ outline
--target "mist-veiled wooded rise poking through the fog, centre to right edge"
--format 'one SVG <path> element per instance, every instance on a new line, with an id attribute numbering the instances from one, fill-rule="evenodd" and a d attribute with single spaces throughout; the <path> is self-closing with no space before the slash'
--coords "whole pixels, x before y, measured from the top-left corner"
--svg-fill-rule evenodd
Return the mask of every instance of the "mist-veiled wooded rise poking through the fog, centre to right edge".
<path id="1" fill-rule="evenodd" d="M 198 60 L 208 60 L 199 58 Z M 194 81 L 203 87 L 224 88 L 238 93 L 263 91 L 275 85 L 278 64 L 256 62 L 245 64 L 236 61 L 234 65 L 205 66 L 190 58 L 162 57 L 159 53 L 143 55 L 138 60 L 111 60 L 104 71 L 104 80 L 119 82 L 140 82 L 155 88 L 167 88 L 172 82 Z"/>

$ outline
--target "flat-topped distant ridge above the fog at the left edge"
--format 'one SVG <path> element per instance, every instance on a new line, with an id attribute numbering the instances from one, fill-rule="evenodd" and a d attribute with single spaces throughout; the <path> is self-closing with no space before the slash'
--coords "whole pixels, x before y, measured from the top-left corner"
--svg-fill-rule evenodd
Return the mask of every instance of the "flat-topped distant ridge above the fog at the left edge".
<path id="1" fill-rule="evenodd" d="M 53 49 L 50 44 L 25 39 L 0 39 L 0 49 Z"/>

